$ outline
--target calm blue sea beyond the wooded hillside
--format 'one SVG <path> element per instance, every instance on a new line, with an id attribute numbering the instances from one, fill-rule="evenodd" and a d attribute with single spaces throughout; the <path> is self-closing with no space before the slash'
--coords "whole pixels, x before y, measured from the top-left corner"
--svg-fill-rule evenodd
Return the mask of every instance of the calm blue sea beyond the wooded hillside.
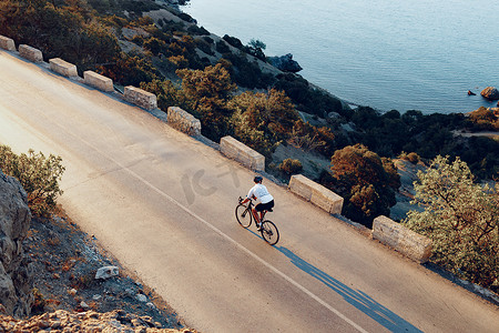
<path id="1" fill-rule="evenodd" d="M 212 33 L 292 53 L 301 75 L 353 104 L 425 114 L 497 104 L 480 91 L 499 88 L 499 1 L 191 0 L 181 9 Z"/>

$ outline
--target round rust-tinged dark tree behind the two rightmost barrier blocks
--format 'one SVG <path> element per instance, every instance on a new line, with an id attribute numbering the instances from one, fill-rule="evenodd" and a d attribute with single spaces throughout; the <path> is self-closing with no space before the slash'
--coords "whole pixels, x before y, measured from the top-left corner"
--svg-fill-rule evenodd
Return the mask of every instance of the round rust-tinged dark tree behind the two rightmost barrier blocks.
<path id="1" fill-rule="evenodd" d="M 378 215 L 389 215 L 395 205 L 395 190 L 400 178 L 388 159 L 380 158 L 363 144 L 337 150 L 332 157 L 333 180 L 328 188 L 344 196 L 343 213 L 367 226 Z"/>

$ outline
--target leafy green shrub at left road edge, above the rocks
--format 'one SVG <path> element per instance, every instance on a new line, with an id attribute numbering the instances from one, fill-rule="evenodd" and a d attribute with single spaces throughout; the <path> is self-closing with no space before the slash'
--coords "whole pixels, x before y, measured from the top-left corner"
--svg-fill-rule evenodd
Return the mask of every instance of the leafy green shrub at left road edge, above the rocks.
<path id="1" fill-rule="evenodd" d="M 0 169 L 20 181 L 34 215 L 45 216 L 55 210 L 57 198 L 62 194 L 59 182 L 65 170 L 61 162 L 60 157 L 45 158 L 31 149 L 28 154 L 17 155 L 10 147 L 0 145 Z"/>

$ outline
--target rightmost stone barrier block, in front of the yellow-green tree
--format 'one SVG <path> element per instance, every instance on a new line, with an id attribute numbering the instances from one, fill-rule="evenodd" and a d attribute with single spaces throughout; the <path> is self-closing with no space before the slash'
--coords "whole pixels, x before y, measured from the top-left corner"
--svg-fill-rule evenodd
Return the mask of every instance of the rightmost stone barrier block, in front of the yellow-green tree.
<path id="1" fill-rule="evenodd" d="M 431 240 L 420 235 L 400 223 L 378 216 L 373 222 L 373 239 L 378 240 L 419 263 L 431 256 Z"/>

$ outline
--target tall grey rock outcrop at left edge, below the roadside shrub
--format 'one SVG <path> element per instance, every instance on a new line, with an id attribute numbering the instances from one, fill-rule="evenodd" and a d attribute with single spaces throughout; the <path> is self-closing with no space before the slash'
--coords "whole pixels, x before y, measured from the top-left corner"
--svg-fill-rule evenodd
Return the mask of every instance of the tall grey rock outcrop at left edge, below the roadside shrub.
<path id="1" fill-rule="evenodd" d="M 30 315 L 33 266 L 22 249 L 31 223 L 24 189 L 0 170 L 0 303 L 14 317 Z"/>

